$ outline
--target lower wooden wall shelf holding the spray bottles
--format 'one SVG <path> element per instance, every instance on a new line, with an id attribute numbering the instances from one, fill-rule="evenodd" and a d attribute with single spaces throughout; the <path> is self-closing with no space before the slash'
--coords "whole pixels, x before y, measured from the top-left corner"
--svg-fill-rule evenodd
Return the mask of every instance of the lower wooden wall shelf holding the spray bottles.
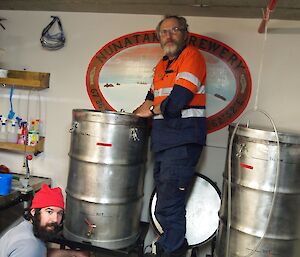
<path id="1" fill-rule="evenodd" d="M 24 152 L 26 150 L 26 153 L 33 153 L 34 155 L 38 155 L 39 153 L 44 151 L 44 142 L 45 142 L 45 137 L 40 137 L 39 142 L 35 146 L 20 145 L 20 144 L 9 143 L 9 142 L 0 142 L 0 149 L 15 151 L 15 152 Z"/>

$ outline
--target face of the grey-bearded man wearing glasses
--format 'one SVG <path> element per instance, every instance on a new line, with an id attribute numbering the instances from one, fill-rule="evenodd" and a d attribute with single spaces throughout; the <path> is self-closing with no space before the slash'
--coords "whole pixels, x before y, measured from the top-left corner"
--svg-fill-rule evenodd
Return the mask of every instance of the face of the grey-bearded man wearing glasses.
<path id="1" fill-rule="evenodd" d="M 169 58 L 174 58 L 184 47 L 187 32 L 183 31 L 183 28 L 180 27 L 176 19 L 170 18 L 163 21 L 160 25 L 159 36 L 160 45 L 164 50 L 164 54 Z"/>

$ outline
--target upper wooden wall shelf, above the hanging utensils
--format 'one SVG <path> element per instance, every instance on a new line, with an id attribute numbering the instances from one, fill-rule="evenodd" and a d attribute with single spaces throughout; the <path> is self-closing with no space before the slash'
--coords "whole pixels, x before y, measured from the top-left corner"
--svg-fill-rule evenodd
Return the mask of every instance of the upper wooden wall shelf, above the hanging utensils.
<path id="1" fill-rule="evenodd" d="M 49 88 L 49 78 L 50 73 L 9 70 L 6 78 L 0 78 L 0 84 L 42 90 Z"/>

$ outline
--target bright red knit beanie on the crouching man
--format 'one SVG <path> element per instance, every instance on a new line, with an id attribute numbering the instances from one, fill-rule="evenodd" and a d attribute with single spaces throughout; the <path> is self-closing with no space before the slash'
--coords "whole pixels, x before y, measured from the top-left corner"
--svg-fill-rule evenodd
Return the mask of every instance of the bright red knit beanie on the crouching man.
<path id="1" fill-rule="evenodd" d="M 64 209 L 64 197 L 59 187 L 50 188 L 47 184 L 43 184 L 41 190 L 33 197 L 31 208 L 46 208 L 50 206 Z"/>

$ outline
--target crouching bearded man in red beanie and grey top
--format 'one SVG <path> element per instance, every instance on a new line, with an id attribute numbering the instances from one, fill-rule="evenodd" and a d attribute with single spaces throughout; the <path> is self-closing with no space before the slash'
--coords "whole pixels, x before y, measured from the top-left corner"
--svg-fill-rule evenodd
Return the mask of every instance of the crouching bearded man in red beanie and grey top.
<path id="1" fill-rule="evenodd" d="M 33 200 L 31 209 L 17 226 L 0 238 L 1 257 L 88 257 L 75 250 L 48 249 L 45 243 L 61 229 L 64 198 L 59 187 L 43 184 Z"/>

